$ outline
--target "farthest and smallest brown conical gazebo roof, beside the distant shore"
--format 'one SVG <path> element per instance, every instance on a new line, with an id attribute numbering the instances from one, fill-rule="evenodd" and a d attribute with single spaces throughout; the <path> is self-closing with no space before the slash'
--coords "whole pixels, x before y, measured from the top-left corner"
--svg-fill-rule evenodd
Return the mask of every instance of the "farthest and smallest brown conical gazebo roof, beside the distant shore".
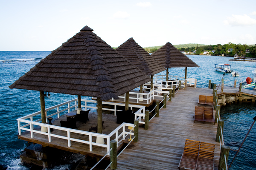
<path id="1" fill-rule="evenodd" d="M 163 67 L 174 68 L 174 67 L 199 67 L 189 57 L 180 52 L 170 42 L 159 48 L 153 54 L 151 54 Z"/>

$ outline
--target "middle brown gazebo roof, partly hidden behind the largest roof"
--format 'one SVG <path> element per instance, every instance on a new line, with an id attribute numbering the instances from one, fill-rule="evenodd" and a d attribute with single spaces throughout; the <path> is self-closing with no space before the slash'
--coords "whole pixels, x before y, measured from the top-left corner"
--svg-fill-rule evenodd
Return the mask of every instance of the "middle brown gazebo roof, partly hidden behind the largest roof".
<path id="1" fill-rule="evenodd" d="M 151 76 L 166 69 L 148 54 L 134 39 L 131 37 L 122 45 L 116 48 L 122 56 L 127 58 L 131 63 L 136 65 L 145 74 Z"/>

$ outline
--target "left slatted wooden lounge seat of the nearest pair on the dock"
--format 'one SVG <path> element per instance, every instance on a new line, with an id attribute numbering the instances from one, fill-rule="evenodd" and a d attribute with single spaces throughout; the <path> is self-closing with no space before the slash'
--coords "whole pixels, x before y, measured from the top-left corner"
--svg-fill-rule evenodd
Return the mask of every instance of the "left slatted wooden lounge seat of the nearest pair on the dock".
<path id="1" fill-rule="evenodd" d="M 198 159 L 199 145 L 199 141 L 186 139 L 184 151 L 179 163 L 179 169 L 184 168 L 188 170 L 195 170 Z"/>

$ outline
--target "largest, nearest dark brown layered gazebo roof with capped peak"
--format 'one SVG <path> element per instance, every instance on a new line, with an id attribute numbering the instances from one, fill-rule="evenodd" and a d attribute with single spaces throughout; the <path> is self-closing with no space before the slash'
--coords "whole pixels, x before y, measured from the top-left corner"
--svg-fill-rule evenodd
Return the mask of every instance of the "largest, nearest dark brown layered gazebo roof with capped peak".
<path id="1" fill-rule="evenodd" d="M 9 88 L 118 99 L 149 77 L 85 26 Z"/>

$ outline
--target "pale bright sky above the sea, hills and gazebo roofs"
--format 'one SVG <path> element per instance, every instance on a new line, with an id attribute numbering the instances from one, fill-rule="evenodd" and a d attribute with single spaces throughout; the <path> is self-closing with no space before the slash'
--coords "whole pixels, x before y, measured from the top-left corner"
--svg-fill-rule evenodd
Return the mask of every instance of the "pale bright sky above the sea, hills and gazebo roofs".
<path id="1" fill-rule="evenodd" d="M 0 0 L 0 51 L 52 51 L 84 26 L 112 47 L 256 44 L 256 0 Z"/>

